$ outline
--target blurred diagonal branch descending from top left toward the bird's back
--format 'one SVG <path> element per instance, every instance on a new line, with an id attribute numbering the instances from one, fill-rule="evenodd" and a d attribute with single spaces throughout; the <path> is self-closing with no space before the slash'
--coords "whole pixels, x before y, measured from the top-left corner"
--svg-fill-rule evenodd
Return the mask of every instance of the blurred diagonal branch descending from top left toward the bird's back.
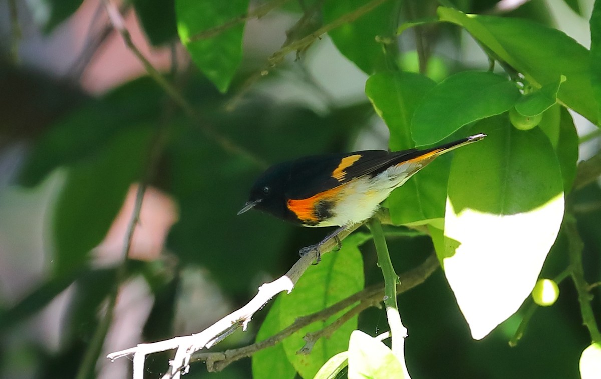
<path id="1" fill-rule="evenodd" d="M 256 155 L 242 148 L 242 146 L 237 145 L 227 137 L 218 133 L 214 128 L 207 124 L 207 122 L 203 121 L 200 114 L 198 114 L 192 104 L 190 104 L 188 100 L 186 100 L 183 95 L 180 94 L 177 88 L 175 88 L 175 86 L 169 82 L 169 80 L 165 79 L 165 77 L 162 76 L 162 74 L 160 74 L 156 68 L 154 68 L 150 61 L 148 61 L 148 59 L 145 58 L 140 50 L 138 50 L 135 44 L 133 44 L 129 31 L 127 31 L 125 27 L 123 17 L 121 17 L 117 7 L 115 7 L 115 5 L 109 0 L 103 0 L 103 4 L 105 4 L 106 13 L 109 16 L 109 20 L 111 21 L 113 28 L 121 35 L 121 38 L 123 38 L 123 42 L 125 43 L 127 49 L 129 49 L 130 52 L 132 52 L 133 55 L 138 58 L 138 61 L 142 64 L 142 66 L 144 66 L 144 69 L 148 75 L 157 83 L 157 85 L 160 86 L 160 88 L 163 89 L 163 91 L 169 95 L 169 97 L 171 97 L 172 101 L 182 108 L 189 118 L 193 119 L 198 125 L 201 125 L 201 131 L 203 131 L 207 137 L 218 143 L 218 145 L 221 146 L 221 148 L 225 151 L 245 157 L 257 167 L 262 169 L 266 168 L 267 163 L 265 161 L 261 160 Z"/>

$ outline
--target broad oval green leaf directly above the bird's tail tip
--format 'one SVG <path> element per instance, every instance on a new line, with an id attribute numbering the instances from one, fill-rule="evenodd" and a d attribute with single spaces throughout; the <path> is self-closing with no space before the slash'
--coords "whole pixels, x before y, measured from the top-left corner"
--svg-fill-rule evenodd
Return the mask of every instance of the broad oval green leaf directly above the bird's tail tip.
<path id="1" fill-rule="evenodd" d="M 466 71 L 448 77 L 413 114 L 415 145 L 439 142 L 471 122 L 505 113 L 519 97 L 514 83 L 493 73 Z"/>

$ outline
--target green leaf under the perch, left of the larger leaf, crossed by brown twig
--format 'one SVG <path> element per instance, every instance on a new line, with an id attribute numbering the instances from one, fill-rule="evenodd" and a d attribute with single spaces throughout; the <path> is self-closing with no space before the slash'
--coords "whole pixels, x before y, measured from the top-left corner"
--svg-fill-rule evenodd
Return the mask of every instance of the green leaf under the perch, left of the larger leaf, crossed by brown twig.
<path id="1" fill-rule="evenodd" d="M 261 342 L 281 332 L 285 326 L 279 322 L 282 295 L 273 303 L 269 313 L 261 324 L 255 342 Z M 284 345 L 277 344 L 265 350 L 258 351 L 252 356 L 252 377 L 255 379 L 294 379 L 296 370 L 288 362 Z"/>

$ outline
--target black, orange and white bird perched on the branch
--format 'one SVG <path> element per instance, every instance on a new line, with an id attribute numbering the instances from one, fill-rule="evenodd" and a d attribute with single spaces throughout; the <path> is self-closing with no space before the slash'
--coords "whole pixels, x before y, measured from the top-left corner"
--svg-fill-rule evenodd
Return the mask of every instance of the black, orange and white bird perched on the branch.
<path id="1" fill-rule="evenodd" d="M 478 142 L 477 134 L 426 150 L 381 150 L 316 155 L 276 164 L 257 179 L 239 215 L 255 208 L 305 227 L 337 226 L 322 242 L 301 249 L 301 256 L 351 225 L 363 222 L 380 203 L 439 155 Z"/>

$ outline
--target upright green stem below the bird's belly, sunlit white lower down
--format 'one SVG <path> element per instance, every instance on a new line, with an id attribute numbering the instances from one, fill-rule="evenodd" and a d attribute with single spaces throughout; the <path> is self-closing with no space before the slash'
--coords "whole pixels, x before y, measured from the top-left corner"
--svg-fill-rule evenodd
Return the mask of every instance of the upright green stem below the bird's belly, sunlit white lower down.
<path id="1" fill-rule="evenodd" d="M 377 261 L 384 276 L 384 307 L 386 309 L 386 318 L 388 318 L 388 326 L 390 327 L 392 354 L 397 357 L 398 362 L 403 366 L 404 378 L 409 378 L 409 372 L 407 372 L 407 365 L 404 359 L 404 344 L 407 337 L 407 329 L 401 322 L 397 304 L 398 275 L 394 272 L 394 267 L 392 267 L 382 224 L 380 224 L 377 216 L 370 219 L 369 225 L 374 245 L 376 246 Z"/>

